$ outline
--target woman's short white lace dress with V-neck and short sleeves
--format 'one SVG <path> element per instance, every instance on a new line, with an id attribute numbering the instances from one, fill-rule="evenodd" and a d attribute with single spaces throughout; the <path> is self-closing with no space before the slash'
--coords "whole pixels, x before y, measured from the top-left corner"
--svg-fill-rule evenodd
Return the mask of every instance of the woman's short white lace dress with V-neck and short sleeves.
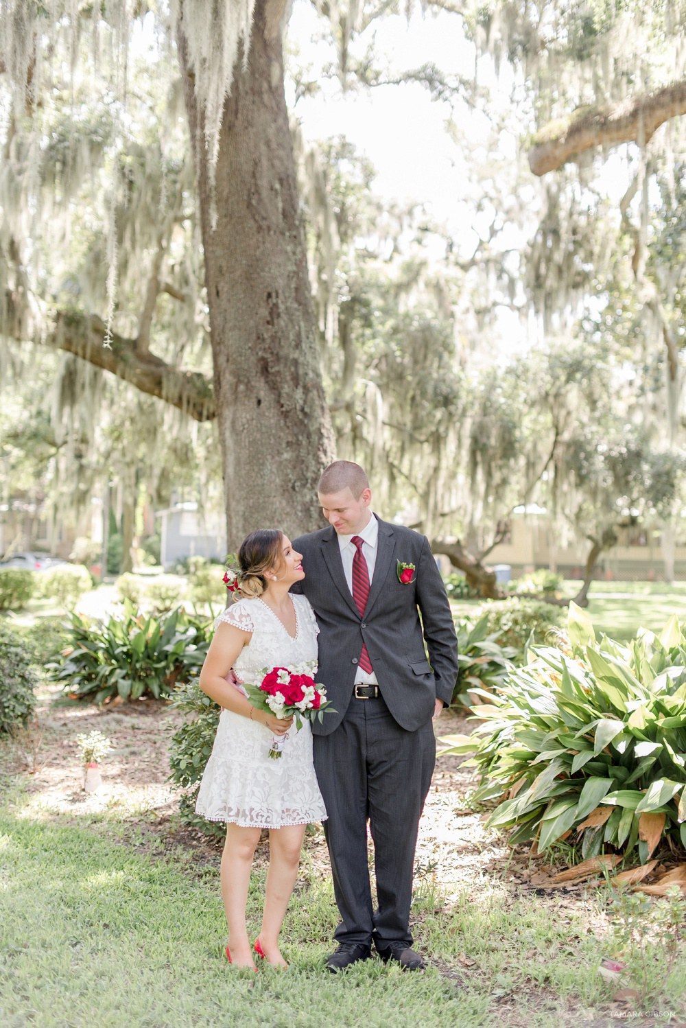
<path id="1" fill-rule="evenodd" d="M 237 677 L 258 684 L 264 669 L 293 667 L 317 659 L 318 626 L 305 596 L 292 596 L 296 635 L 289 634 L 261 599 L 240 599 L 217 619 L 252 632 L 234 661 Z M 242 690 L 244 692 L 244 690 Z M 278 829 L 327 817 L 312 764 L 309 722 L 295 724 L 283 737 L 279 760 L 267 756 L 272 733 L 259 722 L 222 710 L 195 810 L 211 821 L 243 828 Z"/>

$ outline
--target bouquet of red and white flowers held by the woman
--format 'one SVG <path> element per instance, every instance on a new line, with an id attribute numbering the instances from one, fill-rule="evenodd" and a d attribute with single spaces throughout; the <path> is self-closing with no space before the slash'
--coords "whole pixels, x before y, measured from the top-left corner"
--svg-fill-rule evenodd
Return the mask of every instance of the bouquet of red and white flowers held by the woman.
<path id="1" fill-rule="evenodd" d="M 274 718 L 293 717 L 296 729 L 303 727 L 303 719 L 321 721 L 325 711 L 336 713 L 327 700 L 327 690 L 312 677 L 315 662 L 306 661 L 297 667 L 265 668 L 259 685 L 243 683 L 251 703 L 259 710 L 269 710 Z M 273 736 L 269 757 L 278 760 L 283 749 L 283 737 Z"/>

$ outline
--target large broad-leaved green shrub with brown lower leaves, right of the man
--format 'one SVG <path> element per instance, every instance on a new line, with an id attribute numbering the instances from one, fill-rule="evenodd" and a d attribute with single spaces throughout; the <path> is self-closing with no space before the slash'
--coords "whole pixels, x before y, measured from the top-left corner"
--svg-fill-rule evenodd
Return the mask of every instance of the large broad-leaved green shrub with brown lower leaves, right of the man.
<path id="1" fill-rule="evenodd" d="M 510 844 L 536 838 L 543 851 L 571 833 L 583 858 L 638 847 L 645 862 L 662 838 L 686 846 L 686 631 L 673 617 L 659 637 L 598 642 L 570 608 L 573 655 L 532 648 L 472 707 L 477 739 L 447 751 L 478 742 L 478 797 L 502 801 L 487 823 L 511 828 Z"/>

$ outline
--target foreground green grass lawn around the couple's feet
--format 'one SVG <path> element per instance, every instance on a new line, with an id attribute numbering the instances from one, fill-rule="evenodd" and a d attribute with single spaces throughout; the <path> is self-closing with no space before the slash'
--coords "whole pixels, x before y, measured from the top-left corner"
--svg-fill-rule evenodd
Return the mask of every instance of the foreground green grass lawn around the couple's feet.
<path id="1" fill-rule="evenodd" d="M 40 816 L 20 779 L 1 784 L 2 1028 L 547 1028 L 598 1025 L 611 999 L 598 972 L 603 891 L 538 900 L 497 877 L 448 907 L 419 886 L 425 972 L 374 959 L 333 978 L 322 969 L 337 920 L 331 885 L 307 856 L 284 927 L 291 967 L 260 968 L 251 986 L 224 959 L 216 866 L 183 847 L 142 849 L 114 813 Z M 263 884 L 258 873 L 254 932 Z M 686 968 L 671 987 L 669 1008 L 679 1009 Z"/>

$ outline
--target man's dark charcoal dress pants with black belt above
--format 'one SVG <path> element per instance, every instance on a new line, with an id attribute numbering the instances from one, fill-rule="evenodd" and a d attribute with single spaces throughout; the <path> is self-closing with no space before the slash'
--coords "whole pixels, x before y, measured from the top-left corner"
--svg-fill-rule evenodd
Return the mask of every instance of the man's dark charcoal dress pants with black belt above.
<path id="1" fill-rule="evenodd" d="M 339 943 L 412 945 L 410 905 L 417 831 L 435 763 L 431 720 L 408 732 L 381 697 L 350 699 L 330 735 L 315 735 L 314 769 L 341 923 Z M 374 841 L 378 909 L 372 908 L 367 821 Z"/>

